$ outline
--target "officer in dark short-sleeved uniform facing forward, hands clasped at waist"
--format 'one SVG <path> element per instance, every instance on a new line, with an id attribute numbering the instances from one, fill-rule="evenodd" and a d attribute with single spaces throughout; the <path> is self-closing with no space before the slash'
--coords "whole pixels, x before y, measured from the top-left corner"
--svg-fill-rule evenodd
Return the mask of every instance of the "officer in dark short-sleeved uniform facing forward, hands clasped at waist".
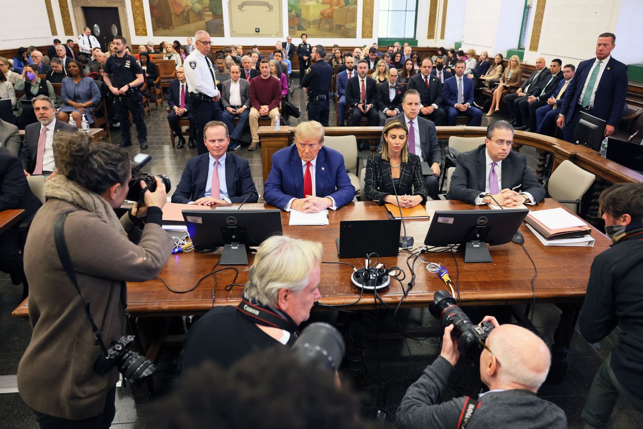
<path id="1" fill-rule="evenodd" d="M 120 147 L 131 146 L 131 123 L 129 112 L 136 124 L 136 138 L 141 149 L 147 149 L 147 127 L 143 120 L 143 95 L 140 86 L 143 85 L 143 69 L 138 60 L 125 53 L 127 41 L 123 36 L 114 37 L 114 55 L 105 62 L 105 84 L 114 94 L 114 110 L 120 121 Z"/>

